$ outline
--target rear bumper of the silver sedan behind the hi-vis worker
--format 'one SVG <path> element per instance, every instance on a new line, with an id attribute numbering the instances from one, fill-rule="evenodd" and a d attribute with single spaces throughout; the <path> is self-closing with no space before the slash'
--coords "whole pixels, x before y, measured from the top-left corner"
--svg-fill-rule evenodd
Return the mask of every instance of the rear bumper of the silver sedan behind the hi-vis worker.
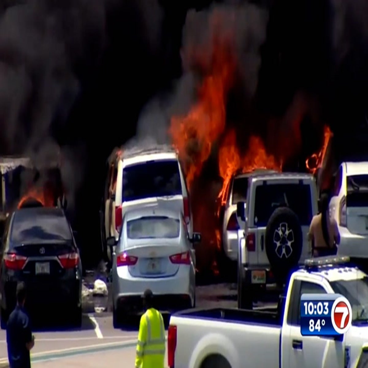
<path id="1" fill-rule="evenodd" d="M 195 298 L 195 271 L 192 266 L 181 265 L 171 277 L 132 277 L 128 270 L 113 269 L 113 303 L 123 309 L 142 309 L 142 295 L 151 289 L 161 310 L 188 308 Z"/>

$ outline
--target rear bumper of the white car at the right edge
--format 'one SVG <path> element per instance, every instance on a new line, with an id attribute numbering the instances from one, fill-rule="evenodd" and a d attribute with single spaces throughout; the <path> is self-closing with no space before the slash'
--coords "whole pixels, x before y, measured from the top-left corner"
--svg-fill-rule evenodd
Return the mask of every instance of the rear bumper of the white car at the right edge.
<path id="1" fill-rule="evenodd" d="M 339 227 L 340 244 L 337 246 L 338 255 L 356 258 L 368 258 L 368 235 L 352 234 L 346 227 Z"/>

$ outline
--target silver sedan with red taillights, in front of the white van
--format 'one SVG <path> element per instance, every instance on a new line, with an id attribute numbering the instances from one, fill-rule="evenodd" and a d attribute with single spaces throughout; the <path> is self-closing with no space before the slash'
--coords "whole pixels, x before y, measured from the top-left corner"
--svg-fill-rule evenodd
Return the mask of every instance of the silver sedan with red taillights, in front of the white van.
<path id="1" fill-rule="evenodd" d="M 143 311 L 142 295 L 149 288 L 155 307 L 175 311 L 195 307 L 194 243 L 201 235 L 188 234 L 181 212 L 146 207 L 131 210 L 123 219 L 113 254 L 113 324 Z M 115 237 L 108 243 L 115 244 Z"/>

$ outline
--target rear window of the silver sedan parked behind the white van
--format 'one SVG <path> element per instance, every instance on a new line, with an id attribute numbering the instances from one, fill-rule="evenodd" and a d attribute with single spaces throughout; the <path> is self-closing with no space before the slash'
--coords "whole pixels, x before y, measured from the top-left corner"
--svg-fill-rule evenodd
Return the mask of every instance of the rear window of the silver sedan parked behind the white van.
<path id="1" fill-rule="evenodd" d="M 180 233 L 180 221 L 171 217 L 141 217 L 127 222 L 129 239 L 177 238 Z"/>

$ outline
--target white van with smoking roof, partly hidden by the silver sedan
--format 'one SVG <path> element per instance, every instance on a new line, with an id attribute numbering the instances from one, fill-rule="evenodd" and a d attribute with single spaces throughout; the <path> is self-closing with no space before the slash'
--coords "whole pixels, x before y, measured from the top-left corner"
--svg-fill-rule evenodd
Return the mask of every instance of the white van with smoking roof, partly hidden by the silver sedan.
<path id="1" fill-rule="evenodd" d="M 112 164 L 105 194 L 105 234 L 118 240 L 127 210 L 142 206 L 160 206 L 181 211 L 193 233 L 189 192 L 177 152 L 167 145 L 131 149 L 119 153 Z M 110 188 L 110 190 L 109 190 Z"/>

